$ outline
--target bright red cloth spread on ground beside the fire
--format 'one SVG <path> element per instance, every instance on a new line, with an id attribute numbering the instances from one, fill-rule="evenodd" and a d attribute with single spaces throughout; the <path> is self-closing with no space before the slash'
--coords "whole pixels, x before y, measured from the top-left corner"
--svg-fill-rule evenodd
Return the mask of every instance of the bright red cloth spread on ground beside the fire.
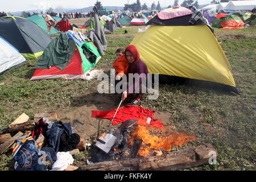
<path id="1" fill-rule="evenodd" d="M 93 110 L 92 117 L 93 118 L 99 117 L 99 118 L 110 119 L 110 121 L 111 121 L 112 118 L 114 117 L 116 110 L 117 109 L 107 110 L 107 111 Z M 148 123 L 146 121 L 147 121 L 147 118 L 150 117 L 151 122 L 150 122 L 149 126 L 158 127 L 159 129 L 164 129 L 163 123 L 158 119 L 154 119 L 154 114 L 155 114 L 154 110 L 144 109 L 142 106 L 125 105 L 123 107 L 119 107 L 112 124 L 117 125 L 119 123 L 125 122 L 128 119 L 137 119 L 138 125 L 147 126 Z"/>

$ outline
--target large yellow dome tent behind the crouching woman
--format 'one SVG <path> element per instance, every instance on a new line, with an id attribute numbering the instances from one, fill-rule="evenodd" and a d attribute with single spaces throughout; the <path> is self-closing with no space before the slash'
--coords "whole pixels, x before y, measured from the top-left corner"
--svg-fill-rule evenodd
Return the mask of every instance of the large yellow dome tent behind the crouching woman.
<path id="1" fill-rule="evenodd" d="M 156 25 L 161 21 L 158 16 L 152 18 L 147 24 L 153 25 L 130 43 L 137 47 L 149 73 L 217 82 L 237 90 L 229 61 L 205 24 Z"/>

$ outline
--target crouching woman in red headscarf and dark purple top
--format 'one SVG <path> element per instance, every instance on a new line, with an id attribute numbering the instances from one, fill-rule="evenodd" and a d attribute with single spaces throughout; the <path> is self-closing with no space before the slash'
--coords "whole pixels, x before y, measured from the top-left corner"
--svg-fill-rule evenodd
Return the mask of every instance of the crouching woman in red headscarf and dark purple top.
<path id="1" fill-rule="evenodd" d="M 142 99 L 142 84 L 143 79 L 147 79 L 148 71 L 146 64 L 140 59 L 139 52 L 134 45 L 129 45 L 125 49 L 125 57 L 129 63 L 128 71 L 126 74 L 128 88 L 122 93 L 122 100 L 129 105 L 138 104 Z M 129 80 L 129 73 L 133 74 L 133 78 Z M 138 78 L 135 78 L 135 73 L 138 73 Z M 145 80 L 144 80 L 145 81 Z M 130 84 L 132 83 L 132 84 Z M 145 85 L 146 86 L 146 85 Z"/>

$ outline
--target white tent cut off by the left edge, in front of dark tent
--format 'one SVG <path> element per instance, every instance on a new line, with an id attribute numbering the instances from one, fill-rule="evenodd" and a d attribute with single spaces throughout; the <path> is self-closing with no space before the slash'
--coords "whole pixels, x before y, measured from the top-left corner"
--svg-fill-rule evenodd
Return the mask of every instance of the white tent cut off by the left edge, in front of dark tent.
<path id="1" fill-rule="evenodd" d="M 0 75 L 10 68 L 27 63 L 26 59 L 0 36 Z"/>

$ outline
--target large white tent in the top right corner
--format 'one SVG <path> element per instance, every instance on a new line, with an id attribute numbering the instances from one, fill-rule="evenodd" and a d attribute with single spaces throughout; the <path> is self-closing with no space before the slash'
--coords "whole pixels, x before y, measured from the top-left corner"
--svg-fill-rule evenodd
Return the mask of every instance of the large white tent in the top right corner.
<path id="1" fill-rule="evenodd" d="M 245 11 L 252 10 L 256 7 L 256 0 L 251 1 L 229 1 L 224 10 L 229 11 Z"/>

